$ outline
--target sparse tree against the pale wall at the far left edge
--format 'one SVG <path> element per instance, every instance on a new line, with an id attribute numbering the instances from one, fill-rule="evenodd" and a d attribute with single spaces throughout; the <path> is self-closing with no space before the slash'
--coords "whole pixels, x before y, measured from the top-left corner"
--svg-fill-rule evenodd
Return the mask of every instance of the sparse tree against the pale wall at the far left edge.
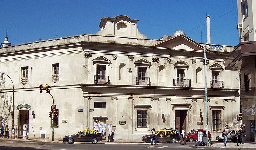
<path id="1" fill-rule="evenodd" d="M 11 117 L 11 108 L 12 108 L 12 96 L 8 96 L 6 93 L 3 93 L 5 86 L 5 78 L 3 74 L 0 74 L 0 125 L 5 126 L 9 117 Z M 10 104 L 9 104 L 10 102 Z"/>

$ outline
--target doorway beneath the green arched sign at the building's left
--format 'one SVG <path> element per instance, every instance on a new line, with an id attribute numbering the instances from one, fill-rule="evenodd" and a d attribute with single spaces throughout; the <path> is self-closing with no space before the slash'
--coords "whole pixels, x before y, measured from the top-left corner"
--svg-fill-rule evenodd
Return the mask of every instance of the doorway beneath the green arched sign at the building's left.
<path id="1" fill-rule="evenodd" d="M 28 124 L 29 110 L 19 110 L 18 137 L 23 137 L 23 125 Z"/>

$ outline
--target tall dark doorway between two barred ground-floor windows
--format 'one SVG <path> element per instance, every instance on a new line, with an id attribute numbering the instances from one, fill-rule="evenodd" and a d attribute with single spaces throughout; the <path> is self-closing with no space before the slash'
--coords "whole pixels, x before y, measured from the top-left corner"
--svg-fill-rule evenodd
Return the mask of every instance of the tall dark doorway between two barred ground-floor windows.
<path id="1" fill-rule="evenodd" d="M 175 129 L 181 131 L 182 127 L 186 130 L 187 110 L 175 110 Z"/>

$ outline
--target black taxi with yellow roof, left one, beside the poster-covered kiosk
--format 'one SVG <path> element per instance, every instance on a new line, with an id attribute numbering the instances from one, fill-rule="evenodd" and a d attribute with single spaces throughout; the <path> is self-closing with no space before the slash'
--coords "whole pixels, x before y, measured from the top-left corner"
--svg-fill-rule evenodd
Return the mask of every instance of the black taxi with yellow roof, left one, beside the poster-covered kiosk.
<path id="1" fill-rule="evenodd" d="M 96 144 L 102 141 L 102 134 L 94 130 L 80 130 L 73 135 L 63 137 L 63 143 L 72 144 L 74 142 L 92 142 Z"/>

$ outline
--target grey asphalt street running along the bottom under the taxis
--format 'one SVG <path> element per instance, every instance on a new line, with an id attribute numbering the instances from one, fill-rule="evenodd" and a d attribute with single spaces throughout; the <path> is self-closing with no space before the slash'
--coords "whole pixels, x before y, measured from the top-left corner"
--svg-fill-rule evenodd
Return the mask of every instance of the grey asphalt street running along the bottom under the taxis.
<path id="1" fill-rule="evenodd" d="M 75 144 L 64 143 L 45 143 L 45 142 L 22 142 L 22 141 L 0 141 L 0 150 L 167 150 L 167 149 L 179 149 L 179 150 L 195 150 L 189 145 L 193 145 L 194 142 L 187 142 L 187 145 L 182 143 L 158 143 L 157 145 L 151 145 L 150 143 L 97 143 L 91 142 L 76 142 Z M 210 150 L 211 148 L 204 147 L 204 150 Z M 220 149 L 221 150 L 221 149 Z"/>

